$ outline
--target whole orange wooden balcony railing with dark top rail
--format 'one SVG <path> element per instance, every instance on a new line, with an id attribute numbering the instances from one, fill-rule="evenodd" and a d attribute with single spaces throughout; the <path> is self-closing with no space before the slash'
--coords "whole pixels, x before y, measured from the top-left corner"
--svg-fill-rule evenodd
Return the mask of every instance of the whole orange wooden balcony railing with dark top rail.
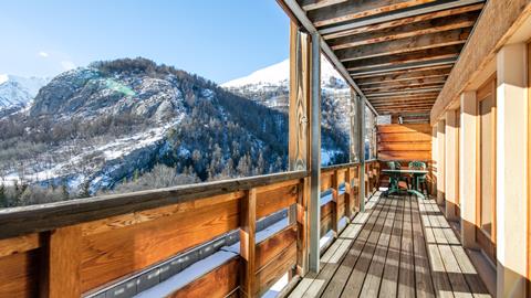
<path id="1" fill-rule="evenodd" d="M 368 185 L 375 169 L 367 162 Z M 321 190 L 332 194 L 322 235 L 337 235 L 358 210 L 358 171 L 322 170 Z M 300 171 L 0 210 L 0 297 L 98 294 L 235 230 L 239 253 L 170 295 L 259 296 L 287 273 L 305 274 L 309 185 Z M 257 221 L 285 209 L 288 224 L 257 241 Z"/>

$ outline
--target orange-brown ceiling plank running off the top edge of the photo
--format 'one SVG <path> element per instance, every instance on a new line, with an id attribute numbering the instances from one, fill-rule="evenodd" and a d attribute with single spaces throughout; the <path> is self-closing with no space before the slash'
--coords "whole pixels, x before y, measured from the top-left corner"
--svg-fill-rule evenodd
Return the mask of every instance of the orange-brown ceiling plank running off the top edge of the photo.
<path id="1" fill-rule="evenodd" d="M 353 21 L 381 13 L 388 13 L 395 10 L 420 6 L 435 0 L 374 0 L 374 1 L 348 1 L 310 11 L 308 17 L 316 28 L 340 22 Z"/>

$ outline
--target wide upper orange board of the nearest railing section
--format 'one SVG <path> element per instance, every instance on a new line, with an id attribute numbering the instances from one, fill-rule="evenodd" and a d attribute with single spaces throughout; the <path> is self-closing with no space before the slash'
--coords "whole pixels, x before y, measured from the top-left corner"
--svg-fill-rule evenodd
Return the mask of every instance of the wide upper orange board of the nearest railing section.
<path id="1" fill-rule="evenodd" d="M 239 226 L 240 201 L 83 237 L 82 289 L 143 269 Z"/>

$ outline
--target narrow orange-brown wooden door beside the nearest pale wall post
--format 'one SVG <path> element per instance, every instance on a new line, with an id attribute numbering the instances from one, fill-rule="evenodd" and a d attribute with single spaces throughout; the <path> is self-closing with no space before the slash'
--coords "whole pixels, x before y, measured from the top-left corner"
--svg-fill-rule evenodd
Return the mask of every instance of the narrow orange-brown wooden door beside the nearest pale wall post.
<path id="1" fill-rule="evenodd" d="M 477 92 L 478 99 L 478 198 L 476 238 L 496 264 L 496 77 Z"/>

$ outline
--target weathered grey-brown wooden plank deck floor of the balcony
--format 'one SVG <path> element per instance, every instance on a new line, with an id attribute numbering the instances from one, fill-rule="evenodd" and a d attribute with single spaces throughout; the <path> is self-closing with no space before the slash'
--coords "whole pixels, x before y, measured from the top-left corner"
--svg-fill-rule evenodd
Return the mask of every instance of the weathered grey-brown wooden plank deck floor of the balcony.
<path id="1" fill-rule="evenodd" d="M 433 200 L 373 196 L 290 297 L 490 297 Z"/>

